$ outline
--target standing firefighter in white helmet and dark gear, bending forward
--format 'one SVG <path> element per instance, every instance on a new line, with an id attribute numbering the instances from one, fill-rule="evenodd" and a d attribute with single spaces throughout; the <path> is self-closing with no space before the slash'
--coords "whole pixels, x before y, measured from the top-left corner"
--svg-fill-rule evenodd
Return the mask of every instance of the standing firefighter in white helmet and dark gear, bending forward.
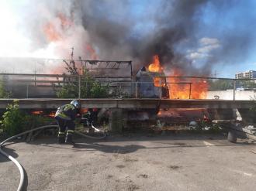
<path id="1" fill-rule="evenodd" d="M 62 143 L 71 143 L 72 136 L 74 134 L 74 119 L 77 115 L 77 111 L 79 108 L 78 101 L 71 101 L 71 104 L 64 104 L 61 107 L 57 108 L 57 112 L 55 114 L 55 119 L 57 124 L 59 125 L 59 133 L 58 133 L 58 142 Z M 65 136 L 65 131 L 67 128 L 67 133 Z"/>

